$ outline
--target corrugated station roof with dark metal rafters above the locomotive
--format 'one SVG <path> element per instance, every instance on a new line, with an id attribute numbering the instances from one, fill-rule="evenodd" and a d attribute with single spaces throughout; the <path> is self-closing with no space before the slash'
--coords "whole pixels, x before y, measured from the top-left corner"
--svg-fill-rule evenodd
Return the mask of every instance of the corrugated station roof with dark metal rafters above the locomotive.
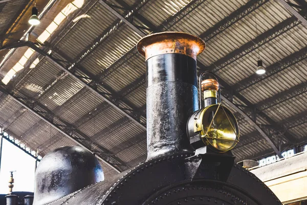
<path id="1" fill-rule="evenodd" d="M 289 3 L 306 18 L 304 0 Z M 34 1 L 0 0 L 0 75 L 9 77 L 0 86 L 0 124 L 34 155 L 79 145 L 95 152 L 106 177 L 143 162 L 146 69 L 135 46 L 162 31 L 205 40 L 198 70 L 220 78 L 239 121 L 236 161 L 305 144 L 307 27 L 280 1 L 36 4 L 40 25 L 30 27 Z M 263 75 L 255 74 L 259 55 Z"/>

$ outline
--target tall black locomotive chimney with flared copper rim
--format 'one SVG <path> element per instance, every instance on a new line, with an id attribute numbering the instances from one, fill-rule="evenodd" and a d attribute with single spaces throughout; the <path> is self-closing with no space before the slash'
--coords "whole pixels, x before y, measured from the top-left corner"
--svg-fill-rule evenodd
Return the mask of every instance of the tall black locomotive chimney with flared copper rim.
<path id="1" fill-rule="evenodd" d="M 193 152 L 187 136 L 189 116 L 199 109 L 196 56 L 202 39 L 179 32 L 142 38 L 138 51 L 146 58 L 147 160 Z"/>

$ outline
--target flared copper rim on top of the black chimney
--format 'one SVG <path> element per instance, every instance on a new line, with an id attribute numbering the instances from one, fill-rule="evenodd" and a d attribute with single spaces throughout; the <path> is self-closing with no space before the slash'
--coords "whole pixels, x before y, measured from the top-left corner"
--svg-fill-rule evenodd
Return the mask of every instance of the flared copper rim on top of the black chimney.
<path id="1" fill-rule="evenodd" d="M 160 54 L 180 53 L 196 60 L 206 48 L 199 37 L 183 32 L 162 32 L 147 35 L 139 40 L 137 49 L 145 59 Z"/>

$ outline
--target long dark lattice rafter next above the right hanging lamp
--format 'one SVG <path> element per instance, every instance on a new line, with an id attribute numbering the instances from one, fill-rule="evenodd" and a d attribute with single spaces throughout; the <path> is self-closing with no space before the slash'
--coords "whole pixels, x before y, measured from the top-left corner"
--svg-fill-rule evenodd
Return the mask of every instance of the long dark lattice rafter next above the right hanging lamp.
<path id="1" fill-rule="evenodd" d="M 212 72 L 217 72 L 300 24 L 301 22 L 293 16 L 286 20 L 283 20 L 283 22 L 274 26 L 272 29 L 269 29 L 268 31 L 260 34 L 255 39 L 244 44 L 240 48 L 235 49 L 234 51 L 227 54 L 225 57 L 218 59 L 204 69 Z"/>

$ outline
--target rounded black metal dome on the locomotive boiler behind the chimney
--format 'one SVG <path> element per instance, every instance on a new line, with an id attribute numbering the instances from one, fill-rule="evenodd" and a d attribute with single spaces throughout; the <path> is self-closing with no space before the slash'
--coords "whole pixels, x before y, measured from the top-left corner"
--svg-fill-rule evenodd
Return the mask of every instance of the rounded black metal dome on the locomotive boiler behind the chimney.
<path id="1" fill-rule="evenodd" d="M 95 155 L 77 146 L 58 148 L 40 161 L 35 173 L 34 204 L 46 204 L 103 181 Z"/>

